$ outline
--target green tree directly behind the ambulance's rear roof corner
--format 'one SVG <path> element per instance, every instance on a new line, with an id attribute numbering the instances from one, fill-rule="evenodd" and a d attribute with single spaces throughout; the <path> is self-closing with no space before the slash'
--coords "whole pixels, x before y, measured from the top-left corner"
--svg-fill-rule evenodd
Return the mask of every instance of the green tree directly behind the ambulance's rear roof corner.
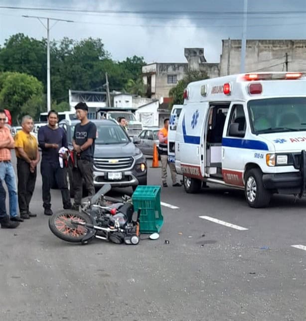
<path id="1" fill-rule="evenodd" d="M 177 85 L 169 90 L 169 97 L 172 98 L 169 109 L 173 105 L 182 105 L 184 103 L 183 93 L 187 85 L 192 81 L 203 80 L 209 78 L 205 71 L 191 70 L 186 76 L 177 82 Z"/>

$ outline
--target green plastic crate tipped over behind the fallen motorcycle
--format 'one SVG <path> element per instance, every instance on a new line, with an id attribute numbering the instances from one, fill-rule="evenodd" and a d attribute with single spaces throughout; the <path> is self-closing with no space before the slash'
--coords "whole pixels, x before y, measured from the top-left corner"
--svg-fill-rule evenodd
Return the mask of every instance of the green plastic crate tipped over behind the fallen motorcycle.
<path id="1" fill-rule="evenodd" d="M 140 232 L 144 234 L 159 233 L 163 224 L 160 207 L 160 186 L 139 185 L 132 195 L 134 209 L 141 209 Z"/>

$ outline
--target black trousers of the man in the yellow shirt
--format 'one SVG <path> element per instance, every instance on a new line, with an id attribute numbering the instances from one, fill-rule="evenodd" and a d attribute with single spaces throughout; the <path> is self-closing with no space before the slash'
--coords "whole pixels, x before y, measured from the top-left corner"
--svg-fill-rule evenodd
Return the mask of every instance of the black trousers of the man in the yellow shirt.
<path id="1" fill-rule="evenodd" d="M 29 204 L 33 195 L 36 182 L 36 167 L 33 173 L 30 172 L 30 164 L 17 157 L 18 177 L 18 205 L 19 212 L 28 213 Z"/>

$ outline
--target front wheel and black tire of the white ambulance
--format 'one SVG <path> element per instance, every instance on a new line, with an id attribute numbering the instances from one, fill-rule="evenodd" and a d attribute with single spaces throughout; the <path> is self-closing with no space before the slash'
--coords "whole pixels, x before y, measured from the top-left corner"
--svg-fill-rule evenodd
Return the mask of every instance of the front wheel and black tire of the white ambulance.
<path id="1" fill-rule="evenodd" d="M 263 183 L 263 174 L 259 168 L 249 169 L 245 174 L 245 197 L 250 207 L 267 207 L 271 200 L 271 192 Z"/>

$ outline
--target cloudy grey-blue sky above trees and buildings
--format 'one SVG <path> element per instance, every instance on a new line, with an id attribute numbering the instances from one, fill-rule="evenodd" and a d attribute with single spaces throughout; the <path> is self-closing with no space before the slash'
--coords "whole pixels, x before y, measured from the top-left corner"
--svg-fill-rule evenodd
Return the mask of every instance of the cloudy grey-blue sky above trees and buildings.
<path id="1" fill-rule="evenodd" d="M 184 47 L 218 62 L 221 40 L 241 39 L 246 0 L 0 0 L 0 45 L 10 35 L 41 39 L 35 15 L 57 22 L 50 38 L 101 38 L 113 59 L 185 62 Z M 248 39 L 306 39 L 306 0 L 248 0 Z M 52 25 L 53 23 L 51 23 Z"/>

